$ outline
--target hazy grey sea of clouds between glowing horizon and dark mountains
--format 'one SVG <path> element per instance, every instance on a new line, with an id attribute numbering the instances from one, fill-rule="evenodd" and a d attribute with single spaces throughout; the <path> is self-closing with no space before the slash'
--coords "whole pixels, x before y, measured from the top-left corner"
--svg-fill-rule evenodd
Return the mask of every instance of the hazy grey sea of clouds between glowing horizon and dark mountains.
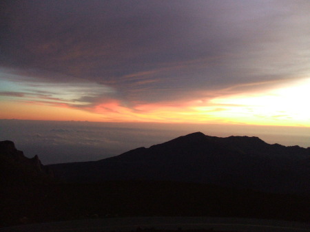
<path id="1" fill-rule="evenodd" d="M 307 127 L 0 120 L 0 140 L 12 140 L 25 156 L 38 155 L 44 165 L 100 160 L 196 131 L 209 136 L 258 136 L 271 144 L 310 147 Z"/>

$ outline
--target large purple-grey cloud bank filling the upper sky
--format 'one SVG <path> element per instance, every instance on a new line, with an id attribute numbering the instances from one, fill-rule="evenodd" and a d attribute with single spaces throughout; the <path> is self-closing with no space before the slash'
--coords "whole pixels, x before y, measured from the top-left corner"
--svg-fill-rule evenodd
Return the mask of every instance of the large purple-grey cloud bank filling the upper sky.
<path id="1" fill-rule="evenodd" d="M 1 8 L 1 66 L 40 82 L 115 89 L 90 104 L 208 98 L 309 70 L 309 1 L 21 0 Z"/>

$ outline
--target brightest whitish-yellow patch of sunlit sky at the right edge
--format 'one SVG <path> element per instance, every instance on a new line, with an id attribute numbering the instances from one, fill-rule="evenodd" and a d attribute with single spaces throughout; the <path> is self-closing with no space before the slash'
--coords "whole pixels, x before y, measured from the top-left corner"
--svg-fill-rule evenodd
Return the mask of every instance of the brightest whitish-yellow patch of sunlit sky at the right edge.
<path id="1" fill-rule="evenodd" d="M 214 98 L 210 103 L 221 109 L 214 116 L 234 122 L 310 126 L 309 89 L 310 78 L 307 78 L 280 89 Z"/>

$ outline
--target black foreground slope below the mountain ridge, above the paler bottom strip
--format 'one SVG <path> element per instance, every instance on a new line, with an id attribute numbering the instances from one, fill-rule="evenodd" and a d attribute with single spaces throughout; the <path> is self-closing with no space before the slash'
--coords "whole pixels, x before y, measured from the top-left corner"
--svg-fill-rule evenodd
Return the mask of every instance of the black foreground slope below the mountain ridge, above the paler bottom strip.
<path id="1" fill-rule="evenodd" d="M 126 216 L 212 216 L 309 222 L 309 198 L 178 182 L 48 184 L 1 189 L 1 226 Z"/>

